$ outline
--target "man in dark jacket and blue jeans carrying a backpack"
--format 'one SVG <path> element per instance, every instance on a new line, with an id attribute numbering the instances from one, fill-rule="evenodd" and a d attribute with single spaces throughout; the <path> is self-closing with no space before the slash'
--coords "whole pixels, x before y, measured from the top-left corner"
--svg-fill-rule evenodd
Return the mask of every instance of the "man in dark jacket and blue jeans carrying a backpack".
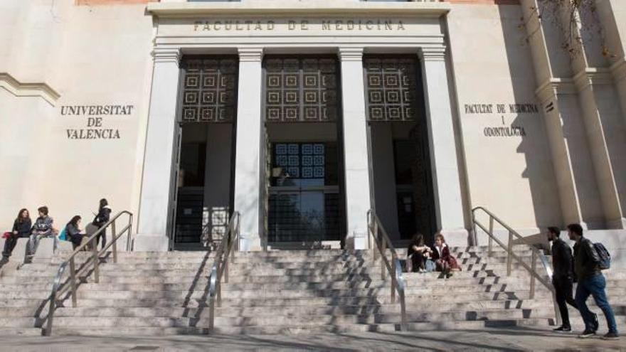
<path id="1" fill-rule="evenodd" d="M 593 296 L 595 304 L 602 309 L 609 327 L 608 334 L 605 339 L 617 339 L 617 324 L 615 324 L 615 315 L 606 297 L 606 279 L 602 274 L 603 269 L 608 268 L 608 253 L 603 250 L 602 255 L 598 254 L 596 245 L 588 238 L 583 237 L 583 228 L 578 224 L 568 225 L 568 235 L 570 240 L 575 241 L 574 245 L 574 272 L 578 278 L 578 287 L 576 287 L 575 302 L 585 321 L 585 331 L 578 335 L 580 338 L 588 338 L 595 335 L 598 331 L 598 321 L 595 319 L 589 307 L 587 299 L 589 295 Z M 600 246 L 604 249 L 603 246 Z"/>

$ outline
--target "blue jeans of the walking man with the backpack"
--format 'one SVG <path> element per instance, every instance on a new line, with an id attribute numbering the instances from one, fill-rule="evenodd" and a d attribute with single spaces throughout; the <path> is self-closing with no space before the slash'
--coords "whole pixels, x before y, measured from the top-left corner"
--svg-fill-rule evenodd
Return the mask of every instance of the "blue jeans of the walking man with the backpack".
<path id="1" fill-rule="evenodd" d="M 587 299 L 589 298 L 589 295 L 591 295 L 595 300 L 595 304 L 598 304 L 607 319 L 609 332 L 617 334 L 615 315 L 613 314 L 613 310 L 611 309 L 608 299 L 606 298 L 605 287 L 606 279 L 603 274 L 587 277 L 583 281 L 578 282 L 578 287 L 576 287 L 576 297 L 574 300 L 576 301 L 580 315 L 583 316 L 583 321 L 585 321 L 585 330 L 595 329 L 595 326 L 593 326 L 593 313 L 587 306 Z"/>

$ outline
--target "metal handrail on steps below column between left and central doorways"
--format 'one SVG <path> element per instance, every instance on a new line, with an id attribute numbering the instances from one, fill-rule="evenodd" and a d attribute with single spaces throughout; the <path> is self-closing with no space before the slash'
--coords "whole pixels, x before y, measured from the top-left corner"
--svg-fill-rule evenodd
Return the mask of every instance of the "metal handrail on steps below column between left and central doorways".
<path id="1" fill-rule="evenodd" d="M 217 306 L 222 304 L 222 275 L 224 276 L 224 283 L 228 284 L 228 258 L 235 260 L 235 252 L 233 248 L 239 247 L 239 228 L 240 228 L 240 215 L 235 211 L 228 221 L 228 230 L 222 238 L 220 247 L 216 252 L 215 260 L 211 266 L 211 274 L 209 279 L 208 296 L 209 296 L 209 320 L 208 320 L 208 332 L 213 332 L 215 327 L 215 306 L 217 300 Z"/>

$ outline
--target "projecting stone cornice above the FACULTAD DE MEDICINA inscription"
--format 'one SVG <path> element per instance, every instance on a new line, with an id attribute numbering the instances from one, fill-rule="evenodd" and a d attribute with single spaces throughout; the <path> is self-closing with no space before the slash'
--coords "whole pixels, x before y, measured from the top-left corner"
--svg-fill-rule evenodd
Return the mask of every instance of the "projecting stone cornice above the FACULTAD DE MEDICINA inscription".
<path id="1" fill-rule="evenodd" d="M 403 3 L 367 1 L 251 1 L 247 2 L 174 2 L 150 3 L 147 13 L 158 17 L 202 16 L 425 16 L 440 17 L 450 11 L 447 2 L 414 1 Z"/>

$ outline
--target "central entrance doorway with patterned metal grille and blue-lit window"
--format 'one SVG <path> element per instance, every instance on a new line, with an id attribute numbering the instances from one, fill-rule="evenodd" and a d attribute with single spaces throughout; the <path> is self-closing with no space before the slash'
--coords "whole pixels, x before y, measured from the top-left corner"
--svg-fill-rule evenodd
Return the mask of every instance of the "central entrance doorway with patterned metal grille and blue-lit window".
<path id="1" fill-rule="evenodd" d="M 339 247 L 345 234 L 336 57 L 268 55 L 265 238 L 280 247 Z"/>

